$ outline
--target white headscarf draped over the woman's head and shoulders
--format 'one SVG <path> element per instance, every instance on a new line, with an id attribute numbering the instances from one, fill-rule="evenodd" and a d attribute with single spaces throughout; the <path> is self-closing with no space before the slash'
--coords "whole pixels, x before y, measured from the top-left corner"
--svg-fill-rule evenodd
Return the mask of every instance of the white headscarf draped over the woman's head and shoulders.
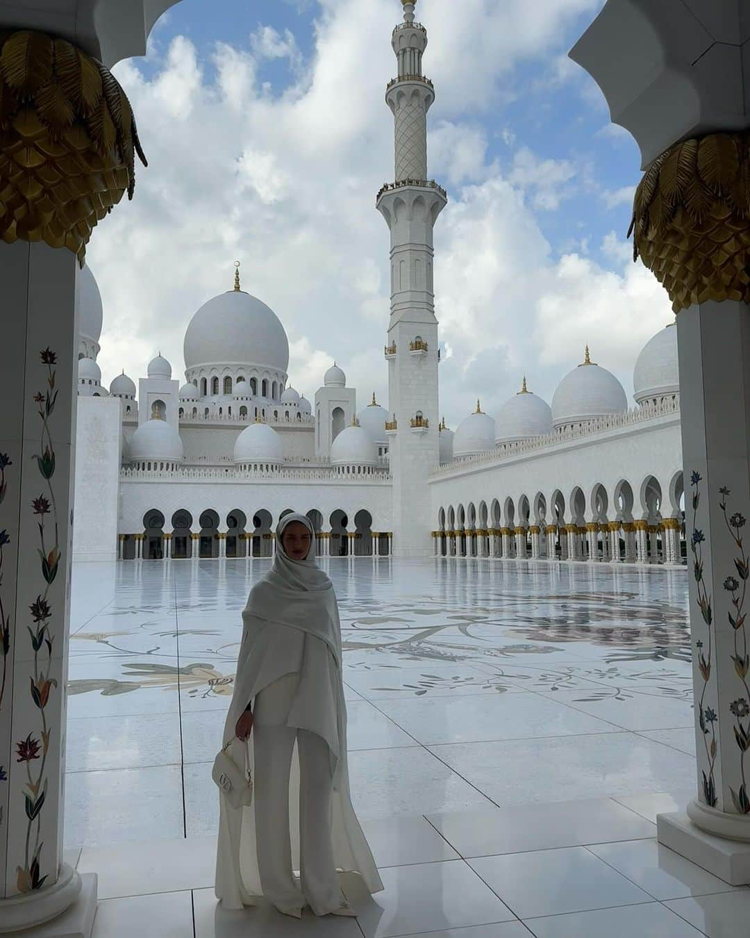
<path id="1" fill-rule="evenodd" d="M 310 532 L 310 549 L 304 560 L 294 560 L 284 550 L 282 535 L 292 522 Z M 276 529 L 276 555 L 271 569 L 256 582 L 248 596 L 243 618 L 255 616 L 267 622 L 301 628 L 323 639 L 341 667 L 341 631 L 333 583 L 315 563 L 315 529 L 307 515 L 284 515 Z"/>

